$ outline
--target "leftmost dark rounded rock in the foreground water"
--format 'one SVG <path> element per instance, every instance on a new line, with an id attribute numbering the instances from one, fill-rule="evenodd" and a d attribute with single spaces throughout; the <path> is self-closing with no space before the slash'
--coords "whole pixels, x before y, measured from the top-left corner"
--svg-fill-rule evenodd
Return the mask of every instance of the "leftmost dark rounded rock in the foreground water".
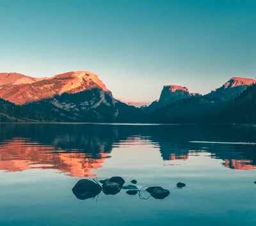
<path id="1" fill-rule="evenodd" d="M 97 185 L 93 181 L 88 179 L 81 179 L 77 181 L 74 188 L 72 188 L 72 192 L 76 195 L 77 199 L 92 199 L 96 195 L 99 195 L 102 188 L 100 185 Z"/>

